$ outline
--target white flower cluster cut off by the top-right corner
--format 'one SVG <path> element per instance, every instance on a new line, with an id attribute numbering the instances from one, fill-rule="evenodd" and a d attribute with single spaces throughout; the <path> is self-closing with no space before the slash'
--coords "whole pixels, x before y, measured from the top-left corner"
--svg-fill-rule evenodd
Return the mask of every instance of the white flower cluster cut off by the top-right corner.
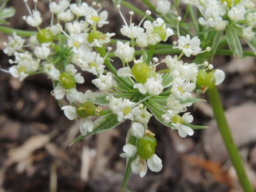
<path id="1" fill-rule="evenodd" d="M 196 5 L 201 12 L 201 25 L 208 25 L 216 31 L 223 31 L 226 26 L 234 25 L 247 41 L 255 36 L 255 2 L 250 0 L 204 0 L 183 2 Z M 235 30 L 233 31 L 235 32 Z"/>

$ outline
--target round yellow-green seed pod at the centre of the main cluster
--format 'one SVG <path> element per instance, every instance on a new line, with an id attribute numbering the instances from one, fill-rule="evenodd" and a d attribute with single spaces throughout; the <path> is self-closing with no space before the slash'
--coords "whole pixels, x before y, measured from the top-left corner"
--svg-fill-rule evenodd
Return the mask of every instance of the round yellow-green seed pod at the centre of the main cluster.
<path id="1" fill-rule="evenodd" d="M 151 68 L 146 63 L 138 63 L 131 68 L 131 74 L 135 77 L 136 82 L 145 84 L 151 77 Z"/>

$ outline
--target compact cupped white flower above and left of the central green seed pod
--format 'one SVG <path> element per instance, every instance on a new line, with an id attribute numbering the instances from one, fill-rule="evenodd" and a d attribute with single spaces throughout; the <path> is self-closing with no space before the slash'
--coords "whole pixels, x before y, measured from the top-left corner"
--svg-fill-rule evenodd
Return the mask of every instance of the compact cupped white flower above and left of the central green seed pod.
<path id="1" fill-rule="evenodd" d="M 128 63 L 134 59 L 135 48 L 129 46 L 129 42 L 125 44 L 121 41 L 117 42 L 117 48 L 114 52 L 115 56 L 121 58 L 121 61 Z"/>

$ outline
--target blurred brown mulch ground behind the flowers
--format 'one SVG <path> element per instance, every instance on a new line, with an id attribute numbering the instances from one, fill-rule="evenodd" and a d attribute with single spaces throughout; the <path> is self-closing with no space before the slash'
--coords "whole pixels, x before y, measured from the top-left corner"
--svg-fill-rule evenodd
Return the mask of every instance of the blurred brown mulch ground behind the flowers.
<path id="1" fill-rule="evenodd" d="M 91 5 L 91 1 L 87 1 Z M 138 8 L 147 7 L 140 1 L 128 1 Z M 155 1 L 151 1 L 155 4 Z M 28 0 L 31 8 L 33 1 Z M 20 0 L 8 2 L 16 9 L 8 19 L 12 28 L 32 30 L 22 20 L 28 15 Z M 115 32 L 122 38 L 120 15 L 110 0 L 101 1 L 102 10 L 109 13 L 109 25 L 103 31 Z M 42 13 L 42 28 L 50 23 L 48 0 L 38 1 Z M 128 9 L 122 13 L 129 19 Z M 155 15 L 156 16 L 156 15 Z M 133 22 L 141 17 L 134 15 Z M 8 56 L 2 50 L 8 35 L 0 32 L 0 65 L 8 69 Z M 167 43 L 171 43 L 169 40 Z M 247 48 L 244 47 L 246 50 Z M 115 49 L 114 49 L 115 50 Z M 157 55 L 164 58 L 165 55 Z M 121 66 L 114 59 L 116 66 Z M 218 86 L 224 110 L 234 140 L 241 152 L 244 167 L 256 190 L 256 59 L 238 59 L 217 55 L 214 68 L 225 71 L 224 83 Z M 83 73 L 85 84 L 79 91 L 94 90 L 93 78 Z M 0 71 L 0 191 L 120 191 L 125 173 L 125 159 L 119 157 L 125 144 L 129 122 L 117 128 L 86 137 L 71 147 L 68 144 L 79 134 L 79 120 L 65 118 L 58 102 L 51 95 L 52 81 L 38 74 L 20 82 Z M 207 100 L 206 95 L 201 98 Z M 67 101 L 61 101 L 67 104 Z M 198 102 L 191 108 L 194 124 L 208 125 L 204 131 L 195 131 L 192 137 L 181 138 L 177 131 L 151 118 L 148 129 L 156 134 L 156 154 L 163 161 L 163 170 L 148 170 L 144 178 L 131 174 L 127 191 L 226 192 L 242 191 L 234 168 L 225 152 L 224 144 L 214 122 L 211 107 Z"/>

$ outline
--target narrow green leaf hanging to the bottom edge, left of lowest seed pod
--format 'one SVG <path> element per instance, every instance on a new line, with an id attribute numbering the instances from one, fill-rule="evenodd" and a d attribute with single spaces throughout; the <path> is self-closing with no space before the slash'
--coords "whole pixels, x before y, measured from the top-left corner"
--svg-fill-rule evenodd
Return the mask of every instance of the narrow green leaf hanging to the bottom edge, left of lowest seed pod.
<path id="1" fill-rule="evenodd" d="M 132 144 L 132 145 L 135 145 L 136 147 L 138 147 L 138 141 L 139 141 L 138 138 L 130 136 L 127 144 Z M 125 185 L 127 183 L 128 177 L 131 174 L 131 163 L 132 163 L 132 161 L 134 161 L 136 159 L 137 156 L 138 155 L 135 154 L 133 157 L 127 158 L 126 167 L 125 167 L 125 176 L 123 179 L 123 183 L 121 184 L 121 191 L 125 190 Z"/>

